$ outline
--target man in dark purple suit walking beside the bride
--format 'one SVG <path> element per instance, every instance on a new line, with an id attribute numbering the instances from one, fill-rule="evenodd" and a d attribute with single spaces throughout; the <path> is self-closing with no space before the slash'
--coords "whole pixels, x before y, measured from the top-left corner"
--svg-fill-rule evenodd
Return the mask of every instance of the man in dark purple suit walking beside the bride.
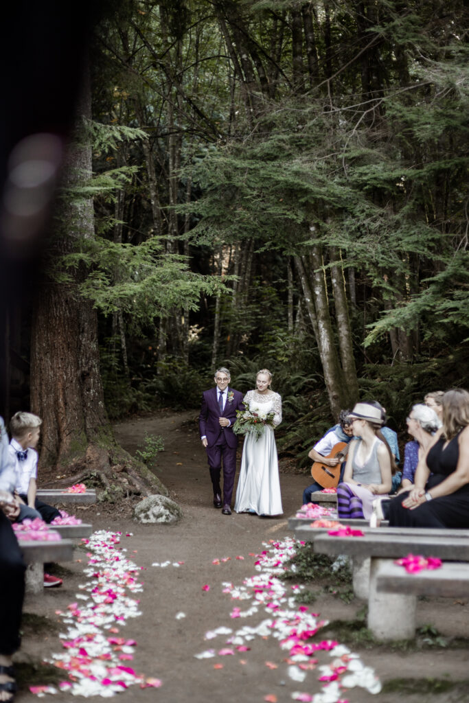
<path id="1" fill-rule="evenodd" d="M 236 446 L 238 437 L 233 434 L 236 411 L 244 410 L 243 394 L 229 387 L 230 372 L 218 368 L 214 381 L 217 384 L 202 396 L 199 427 L 200 439 L 205 446 L 213 486 L 214 508 L 231 515 L 231 495 L 236 472 Z M 220 472 L 223 460 L 223 503 L 221 503 Z"/>

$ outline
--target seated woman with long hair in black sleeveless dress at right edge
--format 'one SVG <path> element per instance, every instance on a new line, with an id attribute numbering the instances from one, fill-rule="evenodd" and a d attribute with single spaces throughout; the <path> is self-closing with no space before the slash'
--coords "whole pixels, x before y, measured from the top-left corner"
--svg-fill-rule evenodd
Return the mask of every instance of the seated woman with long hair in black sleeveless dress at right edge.
<path id="1" fill-rule="evenodd" d="M 393 527 L 469 527 L 469 393 L 446 392 L 442 411 L 443 427 L 418 463 L 413 489 L 390 501 Z"/>

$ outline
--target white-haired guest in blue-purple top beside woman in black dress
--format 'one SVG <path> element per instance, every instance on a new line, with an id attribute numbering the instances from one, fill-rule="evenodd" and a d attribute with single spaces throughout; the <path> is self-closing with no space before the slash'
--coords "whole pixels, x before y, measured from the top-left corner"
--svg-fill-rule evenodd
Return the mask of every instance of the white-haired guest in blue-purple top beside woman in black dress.
<path id="1" fill-rule="evenodd" d="M 442 426 L 437 413 L 432 408 L 418 404 L 412 406 L 406 418 L 407 432 L 414 437 L 404 448 L 404 467 L 402 469 L 401 491 L 413 488 L 413 477 L 420 459 L 427 453 L 433 435 Z"/>

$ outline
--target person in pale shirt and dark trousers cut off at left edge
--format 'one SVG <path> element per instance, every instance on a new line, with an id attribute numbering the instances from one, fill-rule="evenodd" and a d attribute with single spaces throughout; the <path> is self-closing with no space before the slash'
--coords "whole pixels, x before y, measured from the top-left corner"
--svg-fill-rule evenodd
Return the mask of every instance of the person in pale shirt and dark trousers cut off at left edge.
<path id="1" fill-rule="evenodd" d="M 19 506 L 12 492 L 15 471 L 2 418 L 0 435 L 0 701 L 12 701 L 16 683 L 11 657 L 20 647 L 26 567 L 8 520 L 18 515 Z"/>

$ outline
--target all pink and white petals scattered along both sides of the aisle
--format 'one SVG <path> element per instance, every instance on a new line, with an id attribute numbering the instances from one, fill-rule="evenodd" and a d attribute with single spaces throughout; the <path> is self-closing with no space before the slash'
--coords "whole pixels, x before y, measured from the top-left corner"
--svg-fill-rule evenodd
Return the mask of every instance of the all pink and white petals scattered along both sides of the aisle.
<path id="1" fill-rule="evenodd" d="M 112 697 L 131 685 L 159 688 L 162 683 L 159 678 L 143 676 L 129 666 L 137 643 L 122 636 L 121 629 L 127 619 L 141 615 L 139 600 L 131 596 L 141 593 L 143 588 L 137 578 L 139 567 L 124 555 L 127 550 L 118 548 L 120 538 L 120 533 L 98 531 L 84 540 L 89 548 L 89 562 L 84 569 L 86 581 L 79 586 L 76 602 L 70 603 L 65 612 L 56 611 L 67 632 L 60 635 L 63 652 L 52 654 L 49 662 L 63 670 L 64 680 L 58 688 L 72 695 Z M 195 658 L 214 659 L 211 662 L 214 669 L 223 669 L 223 658 L 230 655 L 245 664 L 245 657 L 252 655 L 253 649 L 259 654 L 255 640 L 272 637 L 278 640 L 278 661 L 265 664 L 271 671 L 279 670 L 272 680 L 273 688 L 279 680 L 289 678 L 288 690 L 298 689 L 290 693 L 293 700 L 347 703 L 346 691 L 355 686 L 371 693 L 380 692 L 380 681 L 373 669 L 365 666 L 357 654 L 334 640 L 311 641 L 327 621 L 309 607 L 297 604 L 295 593 L 304 586 L 288 585 L 279 578 L 298 544 L 292 538 L 264 543 L 262 553 L 250 554 L 255 559 L 257 573 L 244 579 L 240 586 L 223 581 L 217 569 L 217 586 L 238 605 L 232 607 L 231 626 L 205 633 L 205 640 L 224 636 L 223 643 L 198 652 Z M 245 559 L 243 555 L 233 558 Z M 212 566 L 222 569 L 230 560 L 231 557 L 217 557 Z M 154 562 L 152 566 L 170 565 L 179 568 L 184 562 Z M 200 584 L 198 588 L 210 597 L 210 583 Z M 176 614 L 176 619 L 184 617 L 183 612 Z M 255 623 L 234 626 L 247 618 L 255 619 Z M 326 655 L 330 659 L 325 659 Z M 320 683 L 313 681 L 312 676 Z M 58 688 L 41 685 L 30 690 L 43 697 L 57 693 Z M 276 703 L 277 696 L 271 692 L 264 700 Z"/>

